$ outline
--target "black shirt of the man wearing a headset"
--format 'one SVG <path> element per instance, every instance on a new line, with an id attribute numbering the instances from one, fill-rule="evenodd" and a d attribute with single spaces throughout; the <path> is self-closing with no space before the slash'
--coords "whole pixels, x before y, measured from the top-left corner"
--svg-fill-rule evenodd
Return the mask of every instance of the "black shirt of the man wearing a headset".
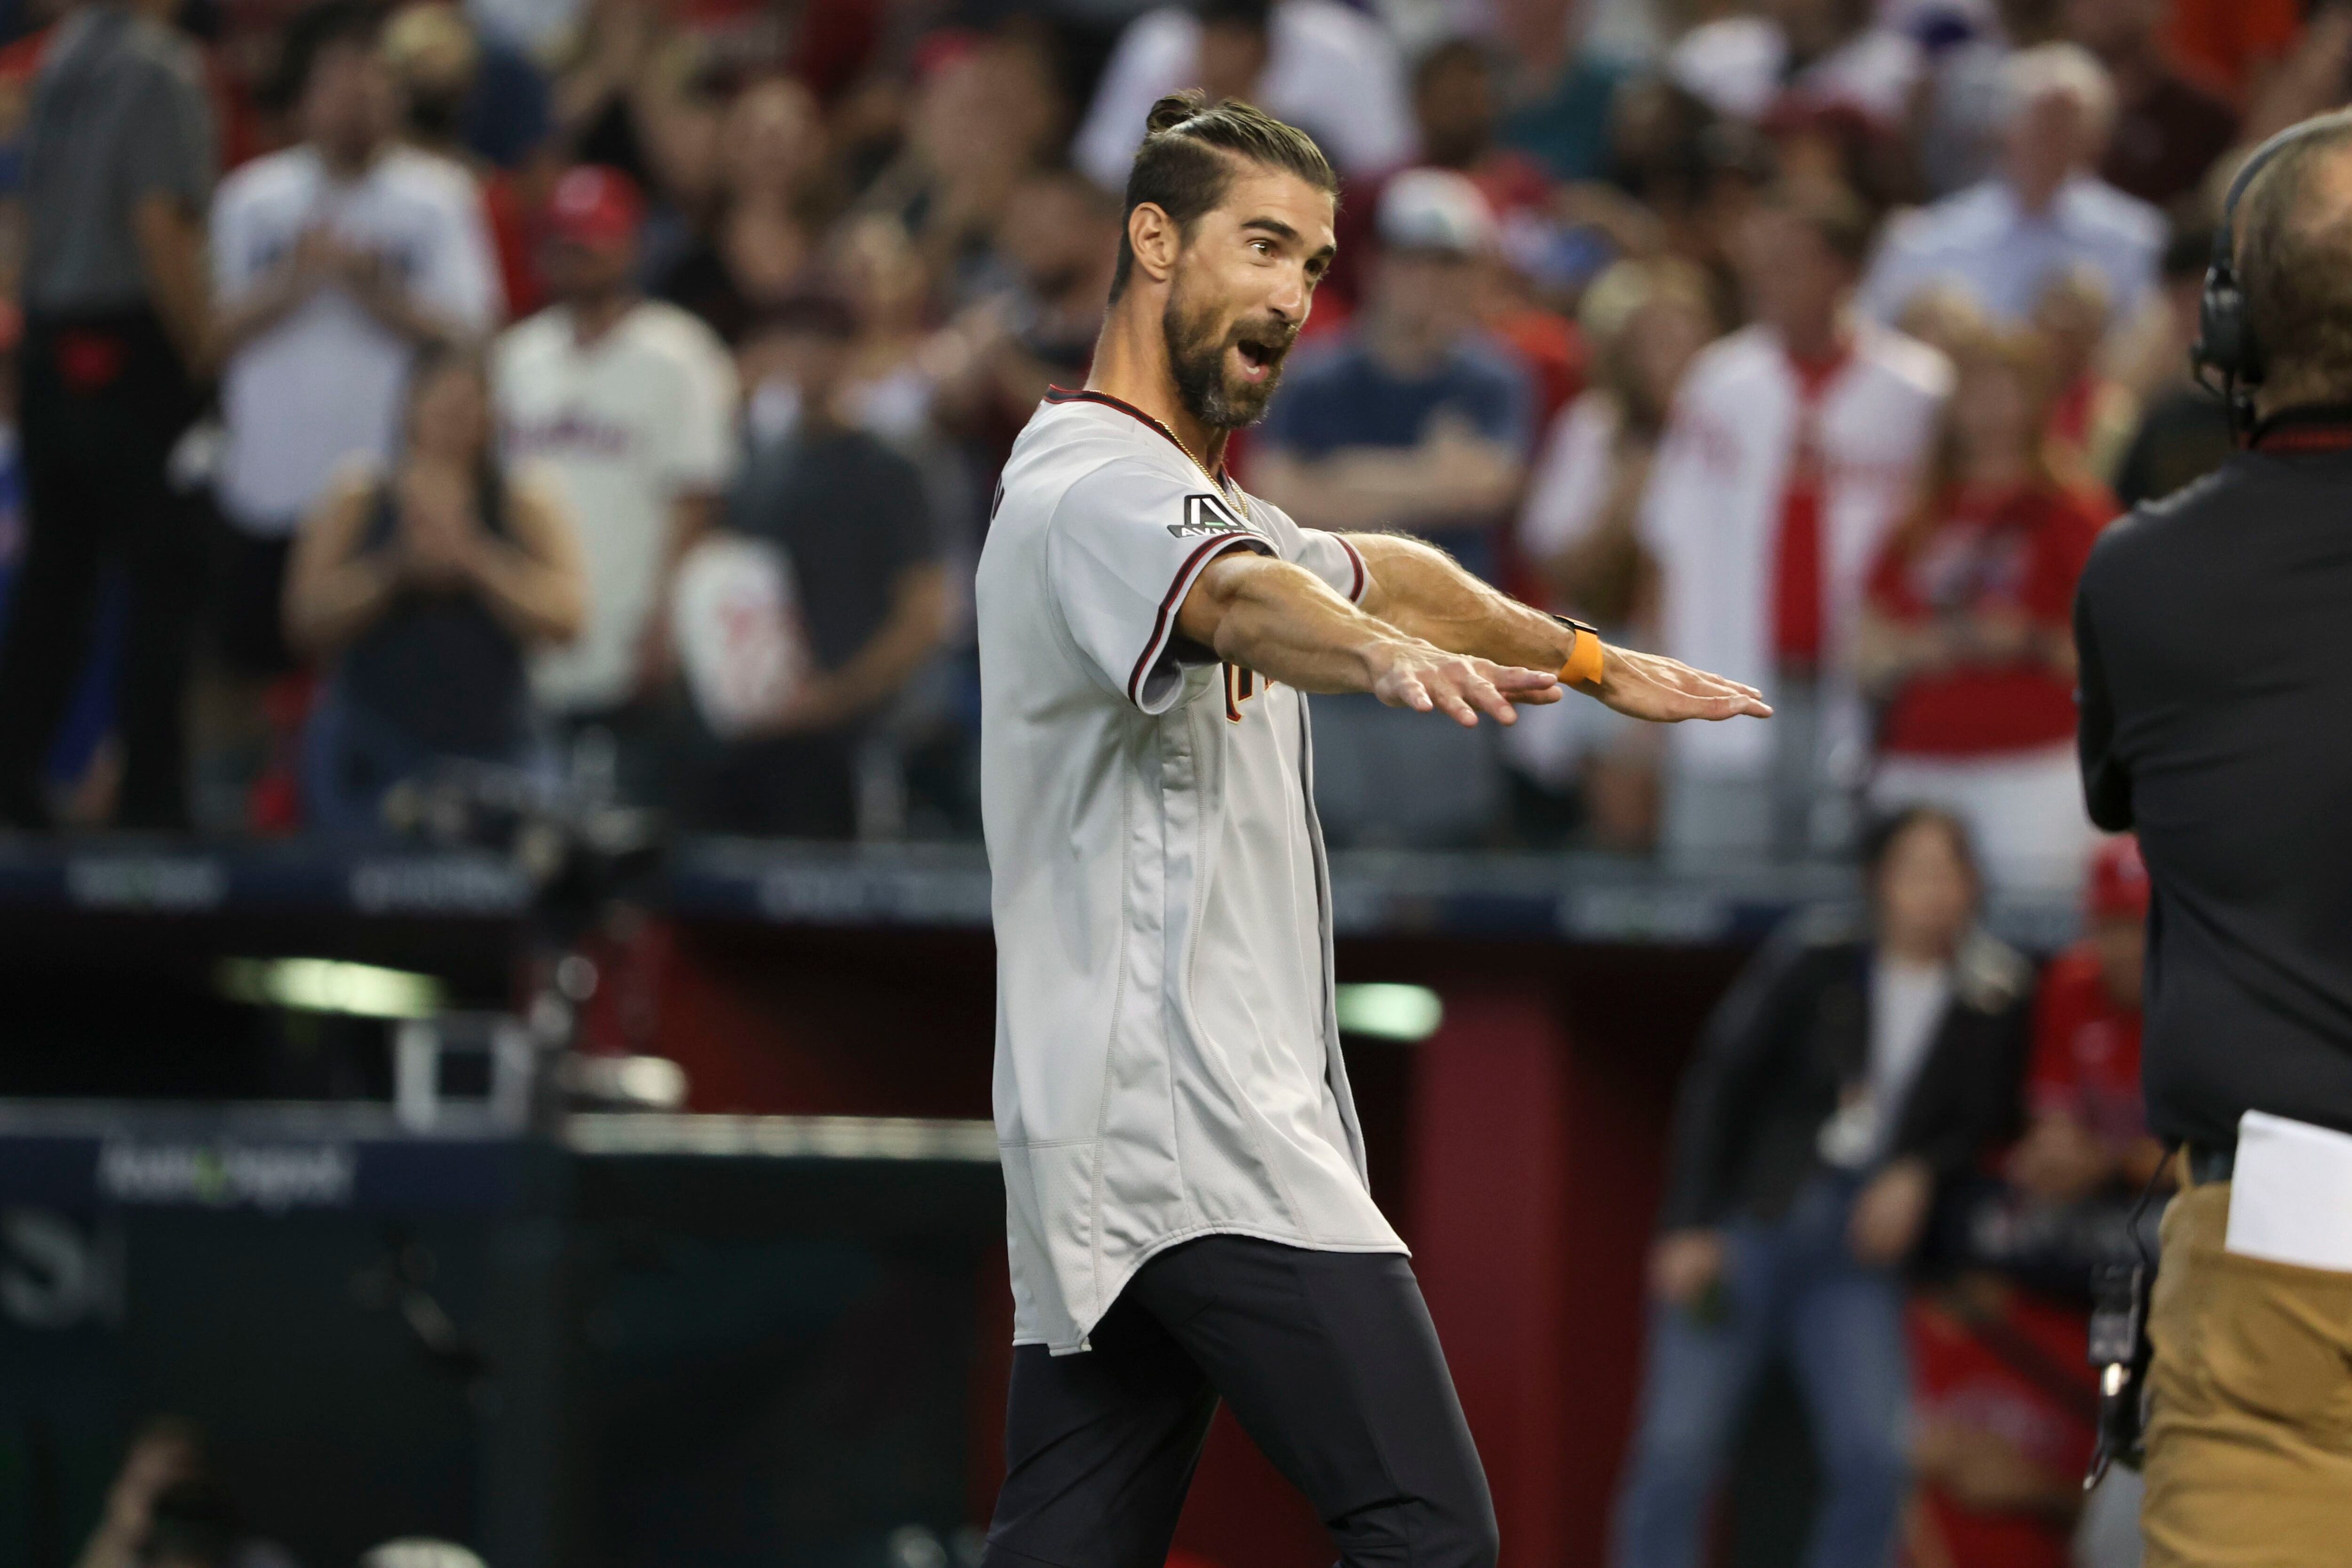
<path id="1" fill-rule="evenodd" d="M 2114 524 L 2074 642 L 2091 820 L 2154 884 L 2150 1126 L 2352 1131 L 2352 409 Z"/>

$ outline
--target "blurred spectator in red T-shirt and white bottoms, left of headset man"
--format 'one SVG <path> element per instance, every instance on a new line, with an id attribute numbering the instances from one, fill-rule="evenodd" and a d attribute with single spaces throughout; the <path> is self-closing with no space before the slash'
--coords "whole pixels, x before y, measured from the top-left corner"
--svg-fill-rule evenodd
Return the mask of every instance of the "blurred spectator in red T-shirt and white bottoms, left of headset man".
<path id="1" fill-rule="evenodd" d="M 1882 703 L 1870 797 L 1955 811 L 1999 891 L 2070 886 L 2091 827 L 2074 762 L 2074 578 L 2105 498 L 2053 473 L 2049 355 L 1962 350 L 1924 496 L 1870 571 L 1853 644 Z"/>

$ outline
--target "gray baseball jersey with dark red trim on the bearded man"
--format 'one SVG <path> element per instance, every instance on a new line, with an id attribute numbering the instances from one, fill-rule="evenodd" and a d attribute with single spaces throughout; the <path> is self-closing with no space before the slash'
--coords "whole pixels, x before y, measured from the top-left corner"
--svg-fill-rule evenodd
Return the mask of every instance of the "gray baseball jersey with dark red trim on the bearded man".
<path id="1" fill-rule="evenodd" d="M 1063 390 L 1014 442 L 981 550 L 1014 1342 L 1054 1354 L 1190 1237 L 1404 1251 L 1331 1016 L 1308 703 L 1176 635 L 1228 550 L 1364 592 L 1343 538 Z"/>

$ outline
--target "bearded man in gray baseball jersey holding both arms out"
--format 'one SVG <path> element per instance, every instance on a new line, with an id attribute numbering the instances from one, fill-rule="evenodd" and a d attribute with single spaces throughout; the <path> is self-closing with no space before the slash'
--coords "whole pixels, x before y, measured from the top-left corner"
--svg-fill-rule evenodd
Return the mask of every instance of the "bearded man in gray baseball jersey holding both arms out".
<path id="1" fill-rule="evenodd" d="M 1152 108 L 1094 374 L 1014 442 L 981 550 L 1014 1286 L 988 1568 L 1160 1568 L 1221 1396 L 1343 1563 L 1494 1563 L 1477 1450 L 1364 1175 L 1303 693 L 1458 724 L 1564 684 L 1646 719 L 1769 712 L 1225 477 L 1331 261 L 1334 188 L 1256 108 Z"/>

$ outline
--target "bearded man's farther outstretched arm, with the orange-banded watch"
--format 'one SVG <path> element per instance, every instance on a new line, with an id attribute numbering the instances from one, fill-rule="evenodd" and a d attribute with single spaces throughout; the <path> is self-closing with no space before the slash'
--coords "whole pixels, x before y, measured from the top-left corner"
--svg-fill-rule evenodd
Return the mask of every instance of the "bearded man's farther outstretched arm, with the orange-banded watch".
<path id="1" fill-rule="evenodd" d="M 1350 534 L 1371 583 L 1364 614 L 1454 654 L 1498 665 L 1559 670 L 1576 651 L 1576 632 L 1552 616 L 1463 571 L 1444 550 L 1402 534 Z M 1602 679 L 1585 691 L 1637 719 L 1769 719 L 1755 686 L 1693 670 L 1675 658 L 1602 649 Z"/>

